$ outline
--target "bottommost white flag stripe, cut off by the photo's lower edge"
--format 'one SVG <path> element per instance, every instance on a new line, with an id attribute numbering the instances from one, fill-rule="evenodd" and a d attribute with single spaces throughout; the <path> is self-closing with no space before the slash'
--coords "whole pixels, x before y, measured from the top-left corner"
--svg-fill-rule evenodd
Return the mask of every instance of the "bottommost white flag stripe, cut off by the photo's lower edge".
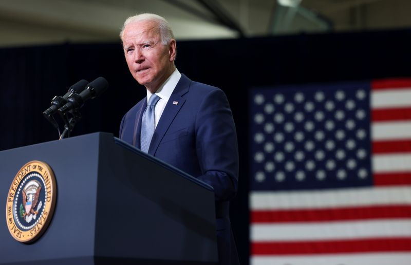
<path id="1" fill-rule="evenodd" d="M 344 255 L 252 256 L 252 265 L 409 265 L 411 254 L 372 253 Z"/>

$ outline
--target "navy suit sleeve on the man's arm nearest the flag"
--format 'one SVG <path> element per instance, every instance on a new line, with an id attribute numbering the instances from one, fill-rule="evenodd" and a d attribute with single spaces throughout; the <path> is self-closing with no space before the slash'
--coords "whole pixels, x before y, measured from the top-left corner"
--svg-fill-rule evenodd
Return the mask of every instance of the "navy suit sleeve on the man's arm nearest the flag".
<path id="1" fill-rule="evenodd" d="M 220 89 L 202 101 L 196 117 L 196 152 L 202 176 L 217 201 L 230 200 L 238 186 L 238 146 L 232 112 Z"/>

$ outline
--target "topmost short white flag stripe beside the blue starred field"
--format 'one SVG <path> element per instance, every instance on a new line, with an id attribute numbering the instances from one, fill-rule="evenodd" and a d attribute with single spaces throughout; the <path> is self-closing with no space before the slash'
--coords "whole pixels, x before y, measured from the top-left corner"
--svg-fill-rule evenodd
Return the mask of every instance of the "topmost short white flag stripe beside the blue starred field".
<path id="1" fill-rule="evenodd" d="M 373 90 L 370 94 L 371 108 L 409 107 L 411 104 L 411 88 Z"/>

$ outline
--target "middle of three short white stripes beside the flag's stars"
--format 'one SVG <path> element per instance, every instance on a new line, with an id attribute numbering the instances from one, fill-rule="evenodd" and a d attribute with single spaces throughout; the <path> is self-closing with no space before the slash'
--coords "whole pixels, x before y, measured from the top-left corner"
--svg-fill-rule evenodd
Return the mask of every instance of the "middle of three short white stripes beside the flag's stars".
<path id="1" fill-rule="evenodd" d="M 411 122 L 372 122 L 372 141 L 411 139 Z"/>

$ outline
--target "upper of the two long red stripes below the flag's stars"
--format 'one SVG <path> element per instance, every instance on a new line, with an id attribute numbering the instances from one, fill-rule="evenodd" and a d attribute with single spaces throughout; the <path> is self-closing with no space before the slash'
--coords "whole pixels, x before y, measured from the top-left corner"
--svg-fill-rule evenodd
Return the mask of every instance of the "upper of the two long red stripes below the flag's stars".
<path id="1" fill-rule="evenodd" d="M 375 205 L 327 209 L 254 210 L 252 223 L 321 222 L 365 219 L 411 218 L 411 205 Z"/>

